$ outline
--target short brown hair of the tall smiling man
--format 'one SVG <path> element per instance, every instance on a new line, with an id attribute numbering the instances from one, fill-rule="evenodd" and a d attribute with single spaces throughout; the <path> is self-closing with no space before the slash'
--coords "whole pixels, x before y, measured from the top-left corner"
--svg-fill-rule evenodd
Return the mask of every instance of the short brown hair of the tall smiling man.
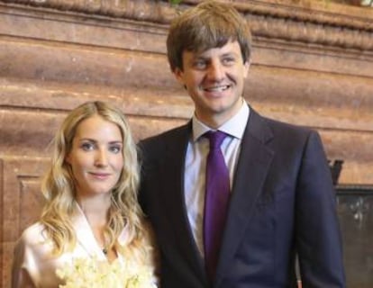
<path id="1" fill-rule="evenodd" d="M 172 71 L 183 70 L 185 50 L 203 52 L 235 40 L 240 44 L 243 62 L 248 62 L 251 52 L 248 23 L 232 4 L 204 1 L 172 21 L 167 38 L 169 66 Z"/>

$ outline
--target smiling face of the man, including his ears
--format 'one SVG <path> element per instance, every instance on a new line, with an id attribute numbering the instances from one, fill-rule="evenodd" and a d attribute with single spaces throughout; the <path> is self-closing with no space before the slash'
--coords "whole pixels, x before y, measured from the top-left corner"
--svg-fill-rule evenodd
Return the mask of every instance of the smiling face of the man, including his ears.
<path id="1" fill-rule="evenodd" d="M 222 48 L 200 53 L 184 51 L 183 70 L 174 71 L 196 105 L 196 117 L 212 128 L 221 126 L 241 108 L 244 78 L 249 62 L 243 63 L 240 45 L 229 41 Z"/>

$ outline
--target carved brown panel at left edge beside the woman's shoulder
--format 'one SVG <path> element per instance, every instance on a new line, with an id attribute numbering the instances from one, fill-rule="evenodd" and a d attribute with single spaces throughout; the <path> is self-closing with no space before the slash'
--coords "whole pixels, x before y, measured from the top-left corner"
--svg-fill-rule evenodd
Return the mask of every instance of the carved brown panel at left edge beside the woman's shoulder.
<path id="1" fill-rule="evenodd" d="M 3 157 L 1 179 L 1 287 L 10 287 L 14 241 L 39 217 L 39 177 L 48 160 L 41 157 Z M 3 282 L 3 283 L 2 283 Z"/>

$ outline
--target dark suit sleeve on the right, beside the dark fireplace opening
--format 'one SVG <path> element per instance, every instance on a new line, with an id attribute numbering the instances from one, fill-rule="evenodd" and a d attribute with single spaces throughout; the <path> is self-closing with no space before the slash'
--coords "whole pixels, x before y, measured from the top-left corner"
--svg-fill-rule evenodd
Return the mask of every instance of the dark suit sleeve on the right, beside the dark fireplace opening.
<path id="1" fill-rule="evenodd" d="M 322 141 L 311 132 L 296 193 L 296 245 L 304 287 L 345 287 L 335 198 Z"/>

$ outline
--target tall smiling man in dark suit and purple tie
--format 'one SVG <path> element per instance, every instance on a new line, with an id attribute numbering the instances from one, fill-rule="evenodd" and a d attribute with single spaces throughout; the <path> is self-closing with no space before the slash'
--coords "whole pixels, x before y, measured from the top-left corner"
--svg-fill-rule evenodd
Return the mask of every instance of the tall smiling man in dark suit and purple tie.
<path id="1" fill-rule="evenodd" d="M 159 241 L 161 287 L 296 287 L 296 258 L 304 287 L 345 287 L 321 139 L 245 102 L 250 31 L 241 15 L 230 4 L 198 4 L 171 24 L 167 44 L 195 114 L 140 143 L 140 199 Z M 205 135 L 216 130 L 223 143 L 209 151 Z M 223 168 L 211 181 L 210 152 L 223 153 L 229 184 Z"/>

